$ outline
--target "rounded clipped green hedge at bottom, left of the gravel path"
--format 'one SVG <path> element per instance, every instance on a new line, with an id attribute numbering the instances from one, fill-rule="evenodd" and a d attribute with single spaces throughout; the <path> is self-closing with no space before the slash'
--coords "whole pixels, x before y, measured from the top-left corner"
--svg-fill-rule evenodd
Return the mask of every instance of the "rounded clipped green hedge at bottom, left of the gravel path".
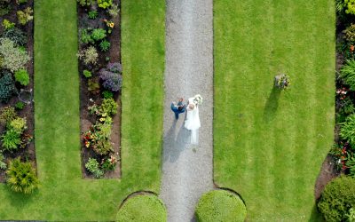
<path id="1" fill-rule="evenodd" d="M 154 194 L 138 194 L 125 202 L 118 210 L 119 222 L 165 222 L 167 212 L 162 201 Z"/>

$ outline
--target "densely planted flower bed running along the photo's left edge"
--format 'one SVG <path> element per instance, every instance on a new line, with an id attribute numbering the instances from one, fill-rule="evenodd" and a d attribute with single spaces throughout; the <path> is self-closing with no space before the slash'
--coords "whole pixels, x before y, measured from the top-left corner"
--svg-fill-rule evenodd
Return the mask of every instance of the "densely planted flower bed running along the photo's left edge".
<path id="1" fill-rule="evenodd" d="M 6 181 L 7 170 L 12 190 L 31 193 L 36 188 L 33 0 L 0 1 L 0 18 L 0 182 Z M 13 172 L 23 166 L 35 186 L 25 187 L 16 178 Z"/>

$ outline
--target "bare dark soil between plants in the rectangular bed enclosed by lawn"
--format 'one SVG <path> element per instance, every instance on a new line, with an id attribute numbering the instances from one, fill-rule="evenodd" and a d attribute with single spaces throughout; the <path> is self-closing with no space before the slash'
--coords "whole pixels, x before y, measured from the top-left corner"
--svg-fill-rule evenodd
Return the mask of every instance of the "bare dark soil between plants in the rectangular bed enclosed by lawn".
<path id="1" fill-rule="evenodd" d="M 114 0 L 114 4 L 118 4 L 120 7 L 120 1 Z M 114 28 L 111 34 L 107 34 L 106 39 L 110 42 L 110 49 L 107 52 L 99 51 L 99 47 L 96 47 L 99 52 L 99 62 L 95 66 L 91 67 L 91 73 L 93 77 L 98 77 L 99 70 L 106 67 L 107 63 L 118 62 L 121 63 L 121 15 L 119 13 L 114 19 L 107 15 L 106 10 L 96 7 L 83 7 L 80 4 L 77 6 L 78 10 L 78 33 L 81 28 L 104 28 L 106 29 L 106 23 L 103 20 L 111 20 L 114 22 Z M 95 10 L 99 12 L 99 16 L 95 20 L 88 18 L 88 12 Z M 80 38 L 80 36 L 79 36 Z M 83 50 L 87 45 L 79 44 L 79 49 Z M 102 102 L 101 92 L 104 91 L 102 85 L 100 84 L 99 93 L 93 93 L 88 90 L 88 79 L 83 75 L 83 70 L 88 69 L 87 66 L 83 65 L 83 62 L 79 60 L 79 75 L 80 75 L 80 123 L 82 138 L 85 131 L 89 131 L 91 126 L 97 121 L 95 115 L 91 115 L 88 107 L 93 104 L 100 105 Z M 103 178 L 121 178 L 121 91 L 114 92 L 114 101 L 117 103 L 117 113 L 112 117 L 113 126 L 111 133 L 111 143 L 113 146 L 112 155 L 114 155 L 118 162 L 116 163 L 114 170 L 107 170 Z M 85 163 L 88 162 L 89 158 L 95 158 L 99 161 L 106 158 L 105 156 L 100 156 L 96 154 L 91 148 L 85 147 L 84 140 L 81 141 L 81 155 L 82 155 L 82 172 L 83 178 L 94 178 L 94 176 L 85 169 Z"/>

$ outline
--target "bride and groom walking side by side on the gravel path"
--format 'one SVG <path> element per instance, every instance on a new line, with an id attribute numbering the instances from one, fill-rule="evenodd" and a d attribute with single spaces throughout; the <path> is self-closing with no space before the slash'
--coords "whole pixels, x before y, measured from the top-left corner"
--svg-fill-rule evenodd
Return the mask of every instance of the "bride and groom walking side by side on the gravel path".
<path id="1" fill-rule="evenodd" d="M 188 99 L 187 104 L 183 104 L 184 99 L 179 99 L 177 104 L 171 103 L 171 110 L 175 113 L 175 118 L 178 119 L 178 115 L 185 113 L 187 110 L 185 119 L 185 128 L 191 131 L 191 143 L 198 143 L 198 130 L 201 127 L 199 106 L 202 104 L 201 95 L 197 94 L 193 98 Z"/>

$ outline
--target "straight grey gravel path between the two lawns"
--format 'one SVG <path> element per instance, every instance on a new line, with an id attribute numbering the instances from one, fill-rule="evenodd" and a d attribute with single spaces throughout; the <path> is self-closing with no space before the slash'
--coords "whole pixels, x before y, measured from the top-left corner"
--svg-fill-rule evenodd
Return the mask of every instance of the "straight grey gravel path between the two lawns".
<path id="1" fill-rule="evenodd" d="M 193 220 L 201 194 L 213 188 L 212 0 L 167 0 L 164 147 L 161 197 L 169 222 Z M 189 145 L 185 114 L 177 122 L 171 101 L 201 94 L 199 145 Z"/>

